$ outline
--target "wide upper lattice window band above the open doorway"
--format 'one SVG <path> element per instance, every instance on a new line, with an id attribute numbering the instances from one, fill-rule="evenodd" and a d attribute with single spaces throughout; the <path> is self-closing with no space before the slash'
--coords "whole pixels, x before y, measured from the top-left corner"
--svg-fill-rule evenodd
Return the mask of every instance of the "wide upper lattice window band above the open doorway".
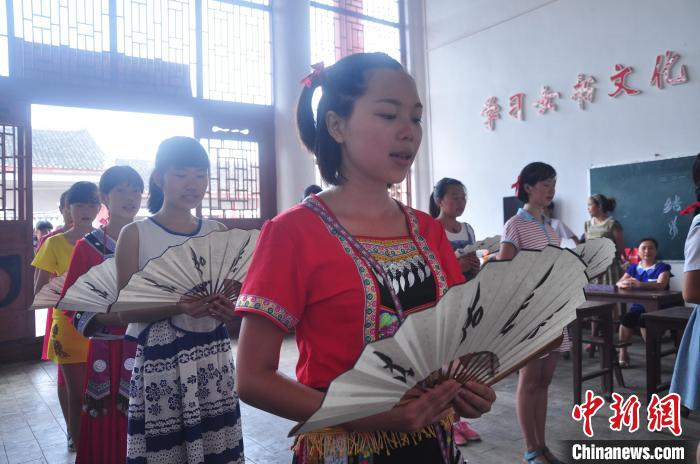
<path id="1" fill-rule="evenodd" d="M 17 38 L 16 77 L 272 104 L 270 0 L 12 0 L 14 37 L 5 3 L 0 75 Z"/>

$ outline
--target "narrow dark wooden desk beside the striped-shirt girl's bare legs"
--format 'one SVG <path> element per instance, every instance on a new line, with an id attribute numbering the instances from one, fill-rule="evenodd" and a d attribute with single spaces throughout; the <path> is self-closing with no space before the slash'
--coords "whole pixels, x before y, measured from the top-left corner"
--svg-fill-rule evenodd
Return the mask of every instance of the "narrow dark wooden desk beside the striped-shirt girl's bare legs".
<path id="1" fill-rule="evenodd" d="M 595 377 L 600 377 L 601 387 L 605 392 L 606 397 L 612 394 L 612 376 L 613 376 L 613 356 L 615 356 L 613 348 L 613 326 L 612 314 L 615 309 L 615 304 L 605 301 L 586 301 L 584 304 L 576 308 L 576 320 L 571 323 L 571 359 L 574 369 L 574 403 L 581 404 L 581 384 L 585 380 Z M 581 321 L 588 317 L 598 318 L 600 329 L 603 338 L 603 349 L 601 349 L 600 369 L 587 374 L 583 374 L 582 360 L 582 327 Z"/>

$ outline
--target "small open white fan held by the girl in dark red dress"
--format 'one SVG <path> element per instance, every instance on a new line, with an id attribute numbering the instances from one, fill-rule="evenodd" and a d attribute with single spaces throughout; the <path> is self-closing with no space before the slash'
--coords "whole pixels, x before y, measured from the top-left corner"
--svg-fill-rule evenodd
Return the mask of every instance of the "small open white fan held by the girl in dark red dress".
<path id="1" fill-rule="evenodd" d="M 109 258 L 78 277 L 56 307 L 69 311 L 106 313 L 118 294 L 117 264 L 113 258 Z"/>

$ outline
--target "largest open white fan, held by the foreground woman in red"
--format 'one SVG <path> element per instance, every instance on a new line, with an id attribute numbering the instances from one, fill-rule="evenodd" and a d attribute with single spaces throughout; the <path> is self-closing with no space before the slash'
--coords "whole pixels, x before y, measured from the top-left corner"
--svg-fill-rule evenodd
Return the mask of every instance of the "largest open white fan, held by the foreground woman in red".
<path id="1" fill-rule="evenodd" d="M 321 407 L 290 435 L 368 417 L 407 392 L 446 378 L 492 385 L 561 337 L 585 301 L 584 262 L 571 250 L 522 250 L 487 263 L 392 336 L 365 346 L 331 384 Z"/>

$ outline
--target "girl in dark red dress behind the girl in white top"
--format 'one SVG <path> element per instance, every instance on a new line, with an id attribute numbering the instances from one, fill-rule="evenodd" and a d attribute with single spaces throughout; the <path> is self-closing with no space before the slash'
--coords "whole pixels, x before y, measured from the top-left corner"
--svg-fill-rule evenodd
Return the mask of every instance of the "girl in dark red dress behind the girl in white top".
<path id="1" fill-rule="evenodd" d="M 141 207 L 143 187 L 141 176 L 129 166 L 113 166 L 102 174 L 100 200 L 109 211 L 109 221 L 75 244 L 64 294 L 90 268 L 114 257 L 119 232 Z M 80 334 L 90 337 L 75 462 L 122 464 L 126 461 L 126 413 L 136 344 L 123 339 L 126 327 L 114 314 L 78 312 L 72 314 L 72 320 Z"/>

